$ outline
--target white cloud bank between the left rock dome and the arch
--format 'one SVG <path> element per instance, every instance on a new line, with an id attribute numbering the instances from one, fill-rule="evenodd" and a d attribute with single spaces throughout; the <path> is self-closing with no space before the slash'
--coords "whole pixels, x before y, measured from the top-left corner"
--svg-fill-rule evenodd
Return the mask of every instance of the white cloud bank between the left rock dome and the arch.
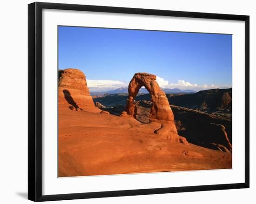
<path id="1" fill-rule="evenodd" d="M 87 86 L 89 90 L 92 91 L 106 91 L 114 90 L 120 87 L 126 87 L 128 84 L 126 82 L 118 80 L 93 80 L 87 79 Z"/>

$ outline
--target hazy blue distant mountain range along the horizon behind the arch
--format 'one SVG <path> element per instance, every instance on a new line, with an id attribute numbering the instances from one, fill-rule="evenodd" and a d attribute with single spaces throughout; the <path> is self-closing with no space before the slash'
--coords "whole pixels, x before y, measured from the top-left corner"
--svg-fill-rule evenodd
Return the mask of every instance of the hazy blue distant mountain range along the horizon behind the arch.
<path id="1" fill-rule="evenodd" d="M 195 93 L 194 90 L 189 90 L 189 89 L 180 90 L 178 88 L 173 88 L 173 89 L 165 88 L 165 89 L 162 89 L 162 90 L 165 93 L 169 93 L 169 94 L 171 94 L 171 93 Z M 118 88 L 118 89 L 115 89 L 115 90 L 104 91 L 104 92 L 90 92 L 90 94 L 92 96 L 100 95 L 100 94 L 105 94 L 105 93 L 109 93 L 109 94 L 128 93 L 128 87 L 121 87 L 121 88 Z M 148 90 L 143 87 L 143 88 L 140 89 L 139 93 L 148 93 Z"/>

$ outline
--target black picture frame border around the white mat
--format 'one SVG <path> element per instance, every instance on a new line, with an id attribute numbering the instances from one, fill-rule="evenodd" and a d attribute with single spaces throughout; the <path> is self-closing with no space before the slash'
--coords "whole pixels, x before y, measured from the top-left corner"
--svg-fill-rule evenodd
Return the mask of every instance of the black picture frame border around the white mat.
<path id="1" fill-rule="evenodd" d="M 130 13 L 245 22 L 245 182 L 125 191 L 84 192 L 42 195 L 42 9 Z M 28 199 L 53 201 L 97 197 L 134 196 L 189 191 L 211 191 L 249 188 L 249 16 L 197 13 L 141 8 L 103 7 L 35 2 L 28 5 Z"/>

